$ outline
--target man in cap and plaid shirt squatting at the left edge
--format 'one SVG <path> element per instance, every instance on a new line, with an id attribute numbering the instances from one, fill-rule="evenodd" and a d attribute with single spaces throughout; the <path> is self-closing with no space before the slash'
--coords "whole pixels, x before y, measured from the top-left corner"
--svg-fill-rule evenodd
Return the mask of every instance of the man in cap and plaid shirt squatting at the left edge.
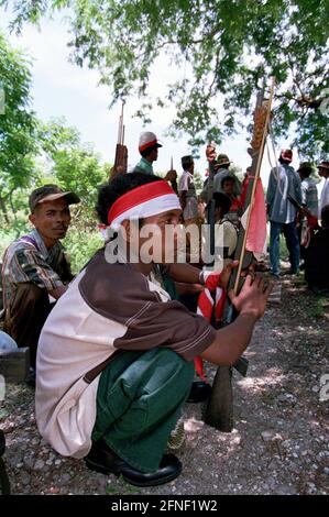
<path id="1" fill-rule="evenodd" d="M 44 185 L 30 196 L 29 235 L 21 237 L 6 250 L 2 264 L 3 330 L 19 346 L 30 348 L 35 366 L 41 329 L 73 275 L 61 239 L 70 222 L 69 205 L 79 202 L 74 193 L 56 185 Z"/>

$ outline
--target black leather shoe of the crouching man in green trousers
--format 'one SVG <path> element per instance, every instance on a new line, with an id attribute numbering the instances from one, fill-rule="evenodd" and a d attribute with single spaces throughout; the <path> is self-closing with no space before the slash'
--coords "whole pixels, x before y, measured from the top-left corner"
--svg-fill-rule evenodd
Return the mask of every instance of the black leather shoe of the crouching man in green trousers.
<path id="1" fill-rule="evenodd" d="M 121 460 L 103 440 L 92 443 L 85 462 L 91 471 L 122 475 L 124 481 L 135 486 L 163 485 L 175 480 L 182 472 L 182 463 L 174 454 L 164 454 L 157 471 L 141 472 Z"/>

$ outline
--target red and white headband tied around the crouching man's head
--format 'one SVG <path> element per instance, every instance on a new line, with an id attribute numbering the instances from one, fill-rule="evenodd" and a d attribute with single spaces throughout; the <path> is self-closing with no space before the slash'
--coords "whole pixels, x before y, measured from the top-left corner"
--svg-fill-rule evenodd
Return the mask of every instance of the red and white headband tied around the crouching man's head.
<path id="1" fill-rule="evenodd" d="M 125 219 L 143 219 L 168 210 L 180 210 L 177 195 L 167 182 L 153 182 L 117 199 L 109 210 L 108 223 L 117 230 Z"/>

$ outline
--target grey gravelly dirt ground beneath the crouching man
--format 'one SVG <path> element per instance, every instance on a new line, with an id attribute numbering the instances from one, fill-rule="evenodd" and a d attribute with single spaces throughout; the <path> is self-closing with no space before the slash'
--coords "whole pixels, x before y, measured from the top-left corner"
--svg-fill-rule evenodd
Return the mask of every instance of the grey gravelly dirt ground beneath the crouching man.
<path id="1" fill-rule="evenodd" d="M 285 277 L 284 277 L 285 278 Z M 234 430 L 221 433 L 186 405 L 186 443 L 174 482 L 135 488 L 56 454 L 37 433 L 33 391 L 9 386 L 0 406 L 13 494 L 328 494 L 329 304 L 286 277 L 246 352 L 249 374 L 234 373 Z M 215 369 L 208 366 L 211 377 Z"/>

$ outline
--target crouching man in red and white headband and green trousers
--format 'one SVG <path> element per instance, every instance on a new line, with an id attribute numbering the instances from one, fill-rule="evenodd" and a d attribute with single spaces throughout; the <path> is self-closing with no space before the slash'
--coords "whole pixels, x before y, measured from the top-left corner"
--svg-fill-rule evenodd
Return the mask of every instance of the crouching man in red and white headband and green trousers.
<path id="1" fill-rule="evenodd" d="M 239 317 L 216 331 L 172 301 L 154 276 L 155 262 L 164 266 L 166 252 L 177 246 L 175 231 L 165 239 L 180 216 L 169 185 L 140 173 L 117 177 L 100 189 L 97 209 L 123 239 L 95 254 L 42 330 L 37 426 L 57 452 L 85 457 L 91 470 L 121 474 L 138 486 L 160 485 L 182 471 L 164 451 L 191 387 L 194 358 L 233 364 L 271 287 L 248 277 L 241 294 L 231 296 Z M 156 229 L 150 253 L 146 224 Z M 152 253 L 157 257 L 150 262 Z"/>

